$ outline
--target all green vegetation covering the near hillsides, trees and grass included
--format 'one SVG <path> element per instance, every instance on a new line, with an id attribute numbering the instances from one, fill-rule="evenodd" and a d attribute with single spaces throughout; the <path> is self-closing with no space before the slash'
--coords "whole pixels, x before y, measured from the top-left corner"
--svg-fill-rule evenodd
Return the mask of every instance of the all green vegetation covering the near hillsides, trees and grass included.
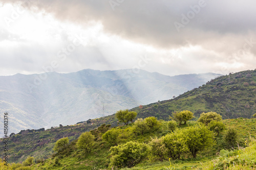
<path id="1" fill-rule="evenodd" d="M 248 73 L 250 78 L 245 75 Z M 12 135 L 9 144 L 10 161 L 23 163 L 6 168 L 0 162 L 1 168 L 255 169 L 256 119 L 251 118 L 255 113 L 254 78 L 255 71 L 243 71 L 230 75 L 234 82 L 226 82 L 227 76 L 223 76 L 170 101 L 134 108 L 130 111 L 138 112 L 135 123 L 134 118 L 127 124 L 119 120 L 125 126 L 111 115 L 92 119 L 90 124 L 22 131 Z M 181 109 L 191 110 L 196 117 L 186 123 L 182 120 L 180 125 L 165 121 Z M 241 115 L 244 117 L 236 118 Z M 57 141 L 67 137 L 65 147 L 54 153 Z M 31 156 L 32 164 L 25 166 Z"/>

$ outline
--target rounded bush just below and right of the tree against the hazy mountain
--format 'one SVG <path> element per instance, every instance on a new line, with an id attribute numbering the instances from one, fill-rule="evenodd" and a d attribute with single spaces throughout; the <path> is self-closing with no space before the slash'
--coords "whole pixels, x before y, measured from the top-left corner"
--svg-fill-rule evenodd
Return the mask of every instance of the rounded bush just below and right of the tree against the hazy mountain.
<path id="1" fill-rule="evenodd" d="M 156 117 L 138 118 L 134 123 L 134 131 L 140 134 L 153 132 L 159 128 L 159 122 Z"/>

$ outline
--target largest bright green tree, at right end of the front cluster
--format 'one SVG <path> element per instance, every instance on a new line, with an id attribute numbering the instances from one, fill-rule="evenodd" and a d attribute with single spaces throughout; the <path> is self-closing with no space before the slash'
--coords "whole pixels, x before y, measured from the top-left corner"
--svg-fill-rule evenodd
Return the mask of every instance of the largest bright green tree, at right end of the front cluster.
<path id="1" fill-rule="evenodd" d="M 213 132 L 205 125 L 188 127 L 183 130 L 183 133 L 186 136 L 187 147 L 194 158 L 197 157 L 199 151 L 203 151 L 215 144 Z"/>

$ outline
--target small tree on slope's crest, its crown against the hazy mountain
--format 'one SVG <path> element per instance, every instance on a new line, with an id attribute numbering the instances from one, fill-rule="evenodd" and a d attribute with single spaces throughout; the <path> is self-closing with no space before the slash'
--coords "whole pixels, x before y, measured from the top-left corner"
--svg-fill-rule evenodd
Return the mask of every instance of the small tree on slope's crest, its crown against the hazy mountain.
<path id="1" fill-rule="evenodd" d="M 130 121 L 133 123 L 133 119 L 136 116 L 137 116 L 137 113 L 135 111 L 129 112 L 128 109 L 119 110 L 119 111 L 116 112 L 116 118 L 119 120 L 119 122 L 122 122 L 125 125 L 128 125 L 128 123 Z"/>

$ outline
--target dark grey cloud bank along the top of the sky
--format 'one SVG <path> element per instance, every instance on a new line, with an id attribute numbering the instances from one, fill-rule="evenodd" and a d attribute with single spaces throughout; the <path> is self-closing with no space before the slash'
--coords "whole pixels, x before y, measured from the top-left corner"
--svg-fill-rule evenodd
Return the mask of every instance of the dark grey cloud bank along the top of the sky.
<path id="1" fill-rule="evenodd" d="M 1 0 L 20 2 L 19 0 Z M 203 1 L 203 0 L 202 0 Z M 246 35 L 255 29 L 256 2 L 205 1 L 206 6 L 177 32 L 174 22 L 181 22 L 181 14 L 191 11 L 190 6 L 200 1 L 124 0 L 112 10 L 109 1 L 31 1 L 31 7 L 53 14 L 61 20 L 84 25 L 99 20 L 104 30 L 127 39 L 156 45 L 175 47 L 203 43 L 226 34 Z M 31 8 L 34 9 L 34 8 Z"/>

